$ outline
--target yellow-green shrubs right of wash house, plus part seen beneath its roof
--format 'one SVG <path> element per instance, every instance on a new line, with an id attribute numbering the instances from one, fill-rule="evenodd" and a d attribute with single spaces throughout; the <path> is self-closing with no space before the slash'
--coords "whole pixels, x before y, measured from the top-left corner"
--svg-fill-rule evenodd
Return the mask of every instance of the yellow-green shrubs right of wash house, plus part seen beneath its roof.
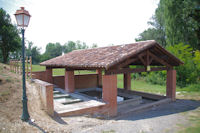
<path id="1" fill-rule="evenodd" d="M 167 46 L 166 49 L 184 62 L 184 65 L 175 67 L 177 85 L 180 87 L 190 84 L 198 85 L 200 82 L 200 52 L 198 50 L 194 51 L 190 45 L 184 45 L 183 43 Z M 150 72 L 146 75 L 146 81 L 164 85 L 166 83 L 166 71 Z"/>

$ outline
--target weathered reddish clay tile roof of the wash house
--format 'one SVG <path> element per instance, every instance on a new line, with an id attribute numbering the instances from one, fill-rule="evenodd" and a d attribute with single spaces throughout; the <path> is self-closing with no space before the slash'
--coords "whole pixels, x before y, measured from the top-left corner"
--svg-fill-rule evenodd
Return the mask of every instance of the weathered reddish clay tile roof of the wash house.
<path id="1" fill-rule="evenodd" d="M 99 47 L 94 49 L 74 50 L 62 56 L 44 61 L 40 65 L 48 67 L 69 67 L 69 68 L 105 68 L 145 51 L 155 45 L 154 40 L 136 42 L 132 44 Z M 159 45 L 160 46 L 160 45 Z M 161 47 L 161 46 L 160 46 Z M 161 47 L 162 48 L 162 47 Z M 164 49 L 164 48 L 162 48 Z M 170 53 L 169 53 L 170 54 Z M 176 58 L 171 55 L 171 57 Z M 176 58 L 177 61 L 180 61 Z M 180 61 L 181 64 L 181 61 Z"/>

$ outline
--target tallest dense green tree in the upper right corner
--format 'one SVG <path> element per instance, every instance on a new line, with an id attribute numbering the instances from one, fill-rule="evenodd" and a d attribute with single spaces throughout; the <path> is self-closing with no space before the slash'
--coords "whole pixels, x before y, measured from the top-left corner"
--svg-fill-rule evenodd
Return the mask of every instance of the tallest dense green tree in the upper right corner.
<path id="1" fill-rule="evenodd" d="M 183 42 L 200 49 L 200 2 L 197 0 L 161 0 L 164 7 L 168 45 Z"/>

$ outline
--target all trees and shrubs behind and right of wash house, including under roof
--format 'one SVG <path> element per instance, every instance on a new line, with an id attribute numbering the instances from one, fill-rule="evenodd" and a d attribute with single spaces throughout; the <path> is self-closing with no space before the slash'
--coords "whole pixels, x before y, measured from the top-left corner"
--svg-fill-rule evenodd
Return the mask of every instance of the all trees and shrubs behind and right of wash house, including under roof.
<path id="1" fill-rule="evenodd" d="M 179 86 L 199 84 L 200 1 L 160 0 L 155 15 L 148 23 L 151 28 L 141 33 L 136 41 L 154 39 L 184 62 L 176 68 Z M 165 77 L 162 72 L 149 73 L 146 81 L 163 84 Z"/>

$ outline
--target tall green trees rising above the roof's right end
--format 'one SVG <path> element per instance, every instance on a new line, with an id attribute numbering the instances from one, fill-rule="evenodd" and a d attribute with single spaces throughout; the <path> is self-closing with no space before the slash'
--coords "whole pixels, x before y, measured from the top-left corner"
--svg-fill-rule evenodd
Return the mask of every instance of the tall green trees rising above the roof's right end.
<path id="1" fill-rule="evenodd" d="M 194 50 L 200 49 L 200 1 L 160 0 L 152 20 L 152 27 L 136 38 L 156 40 L 162 46 L 183 42 Z"/>

